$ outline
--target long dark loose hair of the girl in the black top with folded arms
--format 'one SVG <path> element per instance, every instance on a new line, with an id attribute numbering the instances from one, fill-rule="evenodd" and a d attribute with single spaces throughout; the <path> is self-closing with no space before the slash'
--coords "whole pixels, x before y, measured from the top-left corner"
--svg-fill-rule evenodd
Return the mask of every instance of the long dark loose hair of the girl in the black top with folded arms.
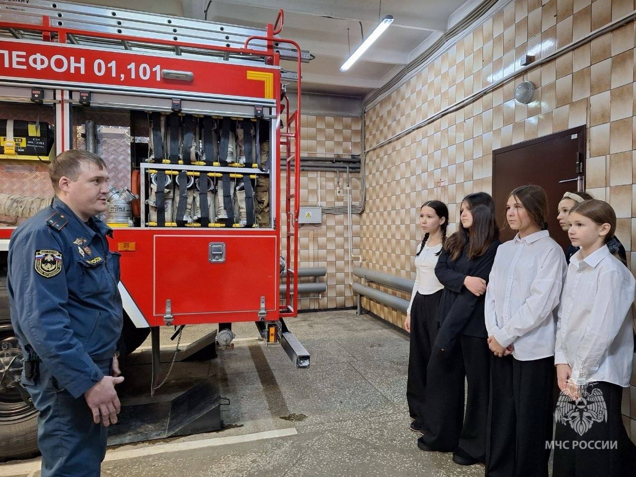
<path id="1" fill-rule="evenodd" d="M 462 204 L 464 203 L 468 204 L 471 211 L 473 225 L 469 230 L 464 228 L 460 221 L 457 232 L 446 240 L 445 249 L 452 260 L 457 260 L 466 246 L 469 259 L 480 257 L 485 254 L 493 240 L 499 239 L 495 202 L 492 197 L 485 192 L 475 192 L 464 197 Z"/>

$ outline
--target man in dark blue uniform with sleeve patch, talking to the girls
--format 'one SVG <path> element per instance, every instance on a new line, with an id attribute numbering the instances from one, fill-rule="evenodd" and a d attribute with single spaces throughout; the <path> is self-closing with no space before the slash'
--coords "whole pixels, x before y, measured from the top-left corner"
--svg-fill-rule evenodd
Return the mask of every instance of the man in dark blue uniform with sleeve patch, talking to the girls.
<path id="1" fill-rule="evenodd" d="M 87 151 L 49 166 L 57 198 L 11 235 L 11 322 L 22 383 L 39 411 L 42 476 L 99 476 L 117 422 L 122 310 L 119 256 L 109 251 L 106 163 Z"/>

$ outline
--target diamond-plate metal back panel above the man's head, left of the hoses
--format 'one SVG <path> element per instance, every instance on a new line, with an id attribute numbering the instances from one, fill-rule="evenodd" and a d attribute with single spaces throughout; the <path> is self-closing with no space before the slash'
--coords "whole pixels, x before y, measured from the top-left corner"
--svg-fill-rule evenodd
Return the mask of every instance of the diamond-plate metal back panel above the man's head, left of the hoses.
<path id="1" fill-rule="evenodd" d="M 130 112 L 103 109 L 77 109 L 73 115 L 73 147 L 85 148 L 84 122 L 95 123 L 97 154 L 106 161 L 116 188 L 130 188 Z"/>

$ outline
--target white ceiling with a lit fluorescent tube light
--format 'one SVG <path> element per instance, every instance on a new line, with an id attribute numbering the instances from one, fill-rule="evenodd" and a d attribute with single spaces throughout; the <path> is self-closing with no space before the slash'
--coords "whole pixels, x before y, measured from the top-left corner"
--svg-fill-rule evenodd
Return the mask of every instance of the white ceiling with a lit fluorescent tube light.
<path id="1" fill-rule="evenodd" d="M 431 41 L 446 31 L 453 12 L 466 0 L 213 0 L 207 20 L 264 27 L 285 11 L 284 38 L 294 39 L 315 59 L 303 64 L 303 91 L 362 96 L 379 88 Z M 184 15 L 204 18 L 208 0 L 183 0 Z M 378 24 L 393 15 L 389 29 L 349 71 L 340 66 Z M 453 16 L 453 23 L 457 21 Z M 283 67 L 295 70 L 294 64 Z M 293 89 L 293 85 L 289 86 Z"/>

